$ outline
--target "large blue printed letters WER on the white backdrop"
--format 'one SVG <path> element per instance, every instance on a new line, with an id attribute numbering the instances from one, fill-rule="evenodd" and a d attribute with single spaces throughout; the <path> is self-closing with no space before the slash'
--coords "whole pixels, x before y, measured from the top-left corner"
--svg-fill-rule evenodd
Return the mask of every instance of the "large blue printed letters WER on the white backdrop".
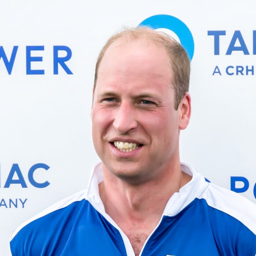
<path id="1" fill-rule="evenodd" d="M 27 45 L 26 46 L 26 75 L 44 75 L 44 63 L 43 63 L 43 51 L 45 50 L 44 45 Z M 15 66 L 15 60 L 19 58 L 19 49 L 18 45 L 13 46 L 11 53 L 7 53 L 4 46 L 0 46 L 0 70 L 3 69 L 3 63 L 6 71 L 11 75 L 12 69 Z M 64 55 L 64 56 L 63 56 Z M 68 68 L 66 62 L 72 57 L 72 51 L 68 46 L 65 45 L 53 45 L 53 75 L 59 74 L 59 68 L 68 75 L 72 75 L 72 71 Z M 1 61 L 2 60 L 2 61 Z M 3 62 L 3 63 L 1 63 Z M 41 62 L 41 63 L 40 63 Z M 41 67 L 40 69 L 35 68 L 34 65 Z M 49 73 L 49 72 L 48 72 Z"/>

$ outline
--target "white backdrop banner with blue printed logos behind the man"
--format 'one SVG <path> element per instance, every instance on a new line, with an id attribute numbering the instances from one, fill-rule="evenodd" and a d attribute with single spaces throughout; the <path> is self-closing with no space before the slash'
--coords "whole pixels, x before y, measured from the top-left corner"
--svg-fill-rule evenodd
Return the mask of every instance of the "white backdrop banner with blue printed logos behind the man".
<path id="1" fill-rule="evenodd" d="M 151 26 L 191 60 L 181 161 L 256 202 L 256 3 L 0 1 L 0 255 L 11 232 L 87 187 L 94 67 L 122 27 Z"/>

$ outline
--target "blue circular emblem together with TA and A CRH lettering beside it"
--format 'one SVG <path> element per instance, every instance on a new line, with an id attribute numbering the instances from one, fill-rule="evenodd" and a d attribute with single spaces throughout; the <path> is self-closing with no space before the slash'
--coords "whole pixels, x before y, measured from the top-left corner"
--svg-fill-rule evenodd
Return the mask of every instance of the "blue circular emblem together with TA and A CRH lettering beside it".
<path id="1" fill-rule="evenodd" d="M 171 15 L 159 14 L 143 20 L 139 26 L 149 26 L 152 29 L 164 28 L 173 31 L 179 38 L 181 45 L 186 49 L 190 60 L 192 60 L 194 55 L 193 36 L 188 26 L 180 19 Z M 213 67 L 212 75 L 248 76 L 255 74 L 254 65 L 249 64 L 249 60 L 252 63 L 255 62 L 250 57 L 256 55 L 256 30 L 250 32 L 250 41 L 248 39 L 245 40 L 241 30 L 233 30 L 231 34 L 226 30 L 208 30 L 207 36 L 212 38 L 214 56 L 228 57 L 236 54 L 238 56 L 237 61 L 240 61 L 241 57 L 248 61 L 247 64 L 233 62 L 226 66 L 223 66 L 220 61 L 219 64 L 216 63 L 215 67 Z M 226 37 L 225 40 L 224 37 Z M 228 44 L 225 43 L 227 38 Z"/>

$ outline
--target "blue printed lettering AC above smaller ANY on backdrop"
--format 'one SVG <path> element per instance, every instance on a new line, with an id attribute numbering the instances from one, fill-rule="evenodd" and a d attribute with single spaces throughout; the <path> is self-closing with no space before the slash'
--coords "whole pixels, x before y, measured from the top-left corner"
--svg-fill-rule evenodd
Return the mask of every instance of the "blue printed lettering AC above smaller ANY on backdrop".
<path id="1" fill-rule="evenodd" d="M 28 171 L 22 170 L 17 163 L 12 164 L 10 169 L 3 170 L 1 167 L 2 166 L 0 166 L 0 191 L 5 189 L 28 188 L 28 186 L 46 188 L 50 184 L 47 180 L 38 180 L 38 174 L 40 176 L 42 171 L 47 171 L 50 168 L 44 163 L 34 164 Z M 7 174 L 7 176 L 3 176 L 3 173 Z M 25 208 L 27 200 L 27 198 L 22 198 L 19 195 L 12 198 L 0 197 L 0 209 Z"/>

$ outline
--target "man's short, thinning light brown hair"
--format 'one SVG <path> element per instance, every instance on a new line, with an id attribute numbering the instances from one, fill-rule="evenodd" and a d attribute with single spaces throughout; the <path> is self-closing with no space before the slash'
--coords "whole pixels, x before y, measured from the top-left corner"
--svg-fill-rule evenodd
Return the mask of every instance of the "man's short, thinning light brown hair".
<path id="1" fill-rule="evenodd" d="M 177 110 L 182 96 L 188 92 L 189 89 L 190 60 L 188 54 L 184 48 L 176 40 L 169 37 L 169 35 L 146 27 L 126 29 L 109 38 L 102 48 L 96 62 L 94 90 L 97 84 L 98 68 L 102 58 L 109 46 L 117 40 L 122 40 L 124 42 L 143 40 L 166 49 L 170 60 L 170 72 L 173 73 L 173 82 L 171 86 L 173 86 L 175 92 L 174 108 Z"/>

